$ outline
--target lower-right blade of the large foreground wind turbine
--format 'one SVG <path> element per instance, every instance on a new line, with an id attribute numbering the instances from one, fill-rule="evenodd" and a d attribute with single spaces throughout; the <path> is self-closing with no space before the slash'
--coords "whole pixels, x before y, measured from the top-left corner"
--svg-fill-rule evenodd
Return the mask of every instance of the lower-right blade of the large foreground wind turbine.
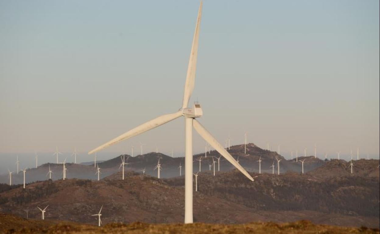
<path id="1" fill-rule="evenodd" d="M 196 119 L 193 120 L 193 126 L 195 130 L 199 133 L 199 135 L 201 135 L 201 137 L 203 137 L 203 139 L 207 141 L 212 146 L 212 148 L 214 148 L 216 151 L 219 152 L 219 154 L 225 157 L 225 159 L 227 159 L 232 165 L 234 165 L 239 171 L 241 171 L 241 173 L 247 176 L 248 179 L 254 181 L 252 176 L 250 176 L 250 174 L 248 174 L 248 172 L 245 171 L 245 169 L 239 163 L 236 162 L 236 160 L 231 156 L 231 154 L 228 153 L 226 149 L 223 148 L 223 146 L 211 135 L 211 133 L 209 133 Z"/>

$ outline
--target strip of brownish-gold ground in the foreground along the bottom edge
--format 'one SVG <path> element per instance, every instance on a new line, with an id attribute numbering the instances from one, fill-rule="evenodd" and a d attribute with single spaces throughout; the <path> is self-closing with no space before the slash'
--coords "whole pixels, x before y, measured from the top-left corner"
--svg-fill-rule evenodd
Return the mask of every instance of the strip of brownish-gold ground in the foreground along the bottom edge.
<path id="1" fill-rule="evenodd" d="M 182 233 L 182 234 L 201 234 L 201 233 L 255 233 L 255 234 L 347 234 L 347 233 L 362 233 L 362 234 L 376 234 L 379 229 L 370 229 L 366 227 L 348 228 L 337 227 L 328 225 L 315 225 L 310 221 L 297 221 L 293 223 L 246 223 L 239 225 L 225 225 L 225 224 L 147 224 L 147 223 L 109 223 L 103 227 L 92 225 L 83 225 L 78 223 L 70 223 L 65 221 L 51 220 L 27 220 L 25 218 L 17 217 L 14 215 L 0 214 L 0 232 L 7 234 L 18 233 L 67 233 L 67 234 L 96 234 L 96 233 L 154 233 L 154 234 L 169 234 L 169 233 Z"/>

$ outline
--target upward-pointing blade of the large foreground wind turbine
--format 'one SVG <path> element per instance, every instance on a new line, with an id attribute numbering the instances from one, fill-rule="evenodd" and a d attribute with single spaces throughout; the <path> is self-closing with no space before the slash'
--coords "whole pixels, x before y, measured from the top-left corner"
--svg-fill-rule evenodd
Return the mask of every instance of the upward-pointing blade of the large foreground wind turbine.
<path id="1" fill-rule="evenodd" d="M 193 43 L 190 52 L 189 63 L 187 67 L 186 82 L 184 89 L 184 99 L 182 101 L 182 108 L 186 108 L 194 90 L 195 85 L 195 71 L 196 71 L 196 57 L 198 55 L 198 39 L 199 39 L 199 25 L 201 24 L 202 2 L 199 5 L 198 18 L 196 20 Z"/>

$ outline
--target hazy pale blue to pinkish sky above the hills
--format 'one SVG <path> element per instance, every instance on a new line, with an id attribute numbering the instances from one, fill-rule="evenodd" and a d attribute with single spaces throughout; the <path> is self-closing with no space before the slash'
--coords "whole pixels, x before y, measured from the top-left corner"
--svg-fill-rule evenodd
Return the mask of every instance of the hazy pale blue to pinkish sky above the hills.
<path id="1" fill-rule="evenodd" d="M 182 104 L 199 1 L 0 0 L 0 169 L 86 152 Z M 205 0 L 198 120 L 248 141 L 379 158 L 379 1 Z M 184 153 L 184 119 L 98 153 Z M 194 131 L 194 152 L 205 142 Z M 345 156 L 344 156 L 345 155 Z M 65 156 L 62 156 L 65 157 Z M 31 165 L 30 165 L 31 166 Z"/>

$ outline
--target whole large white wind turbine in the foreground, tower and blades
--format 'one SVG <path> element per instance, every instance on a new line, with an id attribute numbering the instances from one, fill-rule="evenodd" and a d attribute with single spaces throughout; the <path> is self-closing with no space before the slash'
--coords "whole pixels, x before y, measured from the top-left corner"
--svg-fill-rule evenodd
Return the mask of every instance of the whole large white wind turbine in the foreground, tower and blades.
<path id="1" fill-rule="evenodd" d="M 134 129 L 120 135 L 117 138 L 93 149 L 89 152 L 100 151 L 112 144 L 116 144 L 122 140 L 139 135 L 143 132 L 151 130 L 155 127 L 161 126 L 169 121 L 172 121 L 179 117 L 185 119 L 185 223 L 193 223 L 193 127 L 194 129 L 209 143 L 212 148 L 218 151 L 223 157 L 225 157 L 230 163 L 232 163 L 238 170 L 240 170 L 251 181 L 253 178 L 244 170 L 244 168 L 236 162 L 236 160 L 223 148 L 220 143 L 209 133 L 195 118 L 201 117 L 203 111 L 201 105 L 196 102 L 193 107 L 188 108 L 188 102 L 195 85 L 195 71 L 196 71 L 196 57 L 198 53 L 198 38 L 199 38 L 199 24 L 201 20 L 202 2 L 199 6 L 198 18 L 195 27 L 195 33 L 193 37 L 192 50 L 190 53 L 190 59 L 187 69 L 187 76 L 184 88 L 184 97 L 182 101 L 182 107 L 175 113 L 159 116 L 152 119 Z"/>

